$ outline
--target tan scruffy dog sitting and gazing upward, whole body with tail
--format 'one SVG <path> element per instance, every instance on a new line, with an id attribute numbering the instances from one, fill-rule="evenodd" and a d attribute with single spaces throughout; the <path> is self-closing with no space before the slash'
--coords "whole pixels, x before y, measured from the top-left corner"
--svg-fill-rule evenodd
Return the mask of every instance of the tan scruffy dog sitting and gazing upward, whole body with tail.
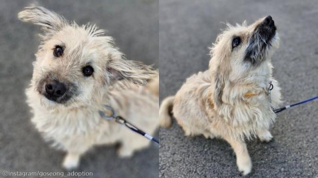
<path id="1" fill-rule="evenodd" d="M 235 151 L 238 170 L 246 175 L 252 162 L 244 140 L 258 136 L 270 141 L 269 126 L 276 117 L 272 107 L 281 103 L 270 60 L 279 37 L 271 16 L 250 26 L 228 26 L 211 48 L 209 70 L 191 76 L 175 96 L 166 98 L 159 120 L 169 126 L 173 106 L 186 136 L 225 139 Z"/>

